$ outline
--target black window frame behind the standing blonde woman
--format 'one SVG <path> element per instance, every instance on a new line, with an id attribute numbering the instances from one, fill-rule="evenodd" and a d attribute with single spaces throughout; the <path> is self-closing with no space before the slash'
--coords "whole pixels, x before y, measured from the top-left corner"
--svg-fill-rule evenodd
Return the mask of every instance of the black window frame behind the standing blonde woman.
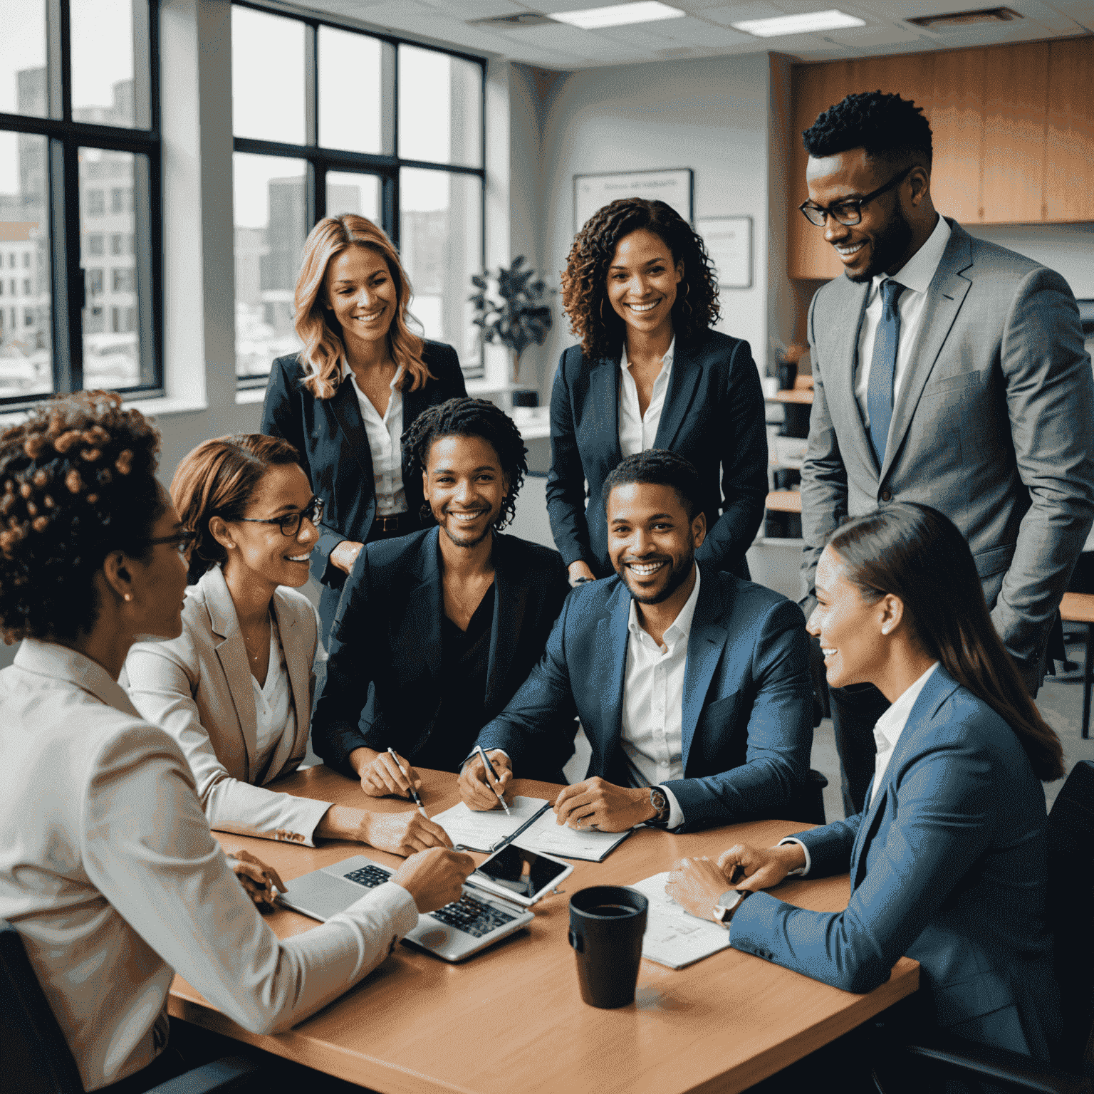
<path id="1" fill-rule="evenodd" d="M 232 133 L 232 152 L 245 152 L 252 155 L 281 156 L 287 160 L 304 161 L 304 209 L 309 218 L 306 232 L 327 216 L 326 176 L 328 172 L 346 171 L 353 174 L 374 175 L 380 181 L 380 226 L 387 233 L 396 251 L 399 249 L 399 171 L 403 167 L 418 167 L 423 171 L 440 171 L 447 174 L 474 175 L 480 182 L 479 187 L 479 266 L 486 268 L 486 97 L 487 97 L 487 60 L 474 54 L 465 54 L 458 49 L 434 46 L 411 38 L 403 38 L 379 31 L 365 31 L 350 23 L 339 22 L 328 15 L 304 14 L 286 11 L 256 2 L 256 0 L 232 0 L 233 8 L 249 8 L 267 15 L 291 19 L 304 24 L 304 144 L 289 144 L 281 141 L 263 140 L 253 137 L 237 137 Z M 392 85 L 381 89 L 381 102 L 391 94 L 391 117 L 381 118 L 381 130 L 392 125 L 393 154 L 371 152 L 349 152 L 326 148 L 318 143 L 319 129 L 319 27 L 328 26 L 336 31 L 360 34 L 362 37 L 375 38 L 393 47 Z M 479 67 L 481 72 L 479 101 L 479 166 L 469 167 L 463 164 L 434 163 L 429 160 L 404 160 L 399 152 L 399 46 L 415 46 L 459 60 L 470 61 Z M 383 107 L 382 107 L 383 108 Z M 234 237 L 233 237 L 234 254 Z M 468 286 L 468 292 L 470 288 Z M 482 369 L 482 338 L 479 336 L 479 372 Z M 467 379 L 474 379 L 467 375 Z M 254 376 L 236 376 L 236 389 L 247 391 L 264 388 L 269 381 L 269 373 Z"/>

